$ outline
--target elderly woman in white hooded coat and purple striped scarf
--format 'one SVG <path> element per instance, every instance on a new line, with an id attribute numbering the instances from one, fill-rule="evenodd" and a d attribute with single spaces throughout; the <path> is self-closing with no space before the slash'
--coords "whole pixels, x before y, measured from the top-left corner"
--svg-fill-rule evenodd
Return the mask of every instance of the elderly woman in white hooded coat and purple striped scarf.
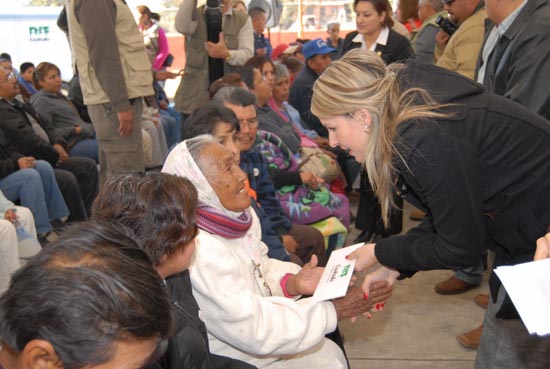
<path id="1" fill-rule="evenodd" d="M 315 257 L 301 270 L 267 257 L 258 218 L 249 209 L 246 174 L 229 149 L 211 136 L 186 140 L 169 154 L 163 172 L 187 177 L 199 193 L 199 242 L 190 275 L 212 351 L 260 368 L 347 368 L 325 334 L 339 319 L 385 301 L 391 289 L 380 285 L 366 301 L 354 287 L 334 301 L 296 301 L 314 292 L 323 269 Z"/>

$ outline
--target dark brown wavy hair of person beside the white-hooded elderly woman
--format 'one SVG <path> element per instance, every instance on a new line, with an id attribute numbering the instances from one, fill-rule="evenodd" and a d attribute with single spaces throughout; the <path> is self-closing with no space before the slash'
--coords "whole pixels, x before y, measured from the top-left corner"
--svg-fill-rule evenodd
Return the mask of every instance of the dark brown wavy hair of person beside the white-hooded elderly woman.
<path id="1" fill-rule="evenodd" d="M 93 205 L 93 219 L 130 228 L 156 266 L 198 232 L 197 190 L 186 178 L 147 172 L 109 177 Z"/>

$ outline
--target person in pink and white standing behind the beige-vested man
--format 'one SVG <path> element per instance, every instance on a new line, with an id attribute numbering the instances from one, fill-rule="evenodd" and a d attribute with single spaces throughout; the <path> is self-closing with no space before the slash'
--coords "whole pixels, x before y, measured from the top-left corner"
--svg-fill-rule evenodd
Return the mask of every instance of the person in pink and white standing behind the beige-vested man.
<path id="1" fill-rule="evenodd" d="M 160 16 L 151 12 L 145 5 L 138 6 L 137 11 L 139 13 L 139 29 L 143 34 L 149 61 L 154 70 L 162 70 L 165 67 L 166 58 L 170 55 L 170 50 L 166 33 L 159 24 Z"/>

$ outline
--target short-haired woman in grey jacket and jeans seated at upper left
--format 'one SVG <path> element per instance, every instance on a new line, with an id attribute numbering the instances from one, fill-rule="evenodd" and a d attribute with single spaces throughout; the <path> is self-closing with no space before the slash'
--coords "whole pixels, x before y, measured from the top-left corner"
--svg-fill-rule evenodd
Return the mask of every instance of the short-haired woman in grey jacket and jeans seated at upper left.
<path id="1" fill-rule="evenodd" d="M 73 103 L 61 93 L 61 71 L 52 63 L 36 66 L 33 84 L 37 92 L 30 102 L 38 114 L 57 128 L 67 141 L 71 156 L 84 156 L 99 162 L 97 141 L 91 123 L 82 120 Z"/>

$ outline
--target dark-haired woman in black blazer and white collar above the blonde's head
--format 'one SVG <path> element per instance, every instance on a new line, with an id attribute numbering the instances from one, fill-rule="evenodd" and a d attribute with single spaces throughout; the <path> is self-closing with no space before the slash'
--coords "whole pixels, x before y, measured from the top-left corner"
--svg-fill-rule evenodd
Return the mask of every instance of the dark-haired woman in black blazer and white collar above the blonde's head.
<path id="1" fill-rule="evenodd" d="M 355 0 L 353 10 L 357 31 L 347 34 L 342 55 L 351 49 L 361 48 L 374 51 L 386 64 L 414 55 L 409 40 L 392 29 L 393 19 L 388 0 Z"/>

